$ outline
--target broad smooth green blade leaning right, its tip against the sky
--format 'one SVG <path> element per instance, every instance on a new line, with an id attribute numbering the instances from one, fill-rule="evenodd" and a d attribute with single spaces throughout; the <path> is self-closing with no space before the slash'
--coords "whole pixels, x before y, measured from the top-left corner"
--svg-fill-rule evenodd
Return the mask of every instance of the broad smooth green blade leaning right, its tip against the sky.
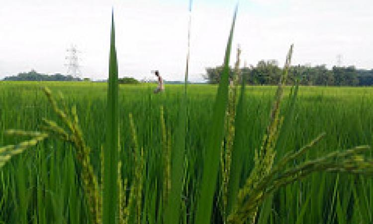
<path id="1" fill-rule="evenodd" d="M 214 110 L 211 119 L 210 132 L 207 139 L 207 145 L 204 154 L 204 165 L 202 180 L 200 185 L 200 195 L 197 202 L 195 215 L 196 224 L 209 224 L 211 219 L 211 210 L 213 195 L 216 187 L 216 180 L 219 168 L 219 156 L 221 150 L 221 141 L 224 134 L 224 117 L 228 102 L 228 76 L 229 76 L 229 58 L 232 47 L 233 30 L 236 22 L 237 7 L 234 12 L 232 27 L 230 30 L 227 48 L 224 58 L 224 68 L 221 74 L 221 80 L 218 87 L 217 96 L 214 103 Z"/>

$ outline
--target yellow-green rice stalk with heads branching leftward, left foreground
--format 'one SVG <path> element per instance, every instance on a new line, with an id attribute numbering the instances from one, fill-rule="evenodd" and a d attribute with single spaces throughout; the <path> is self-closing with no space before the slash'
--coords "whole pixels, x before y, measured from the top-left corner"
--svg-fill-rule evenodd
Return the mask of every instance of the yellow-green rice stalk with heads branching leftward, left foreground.
<path id="1" fill-rule="evenodd" d="M 81 165 L 80 176 L 83 182 L 83 188 L 88 202 L 89 210 L 92 216 L 94 224 L 101 223 L 101 197 L 98 190 L 97 177 L 93 172 L 93 167 L 90 161 L 91 149 L 86 145 L 83 133 L 81 131 L 78 115 L 76 112 L 76 107 L 73 106 L 71 109 L 72 117 L 68 115 L 67 111 L 63 111 L 58 108 L 57 102 L 52 96 L 52 92 L 48 88 L 44 88 L 44 93 L 47 96 L 49 103 L 52 105 L 53 111 L 61 118 L 65 126 L 68 127 L 69 131 L 66 131 L 55 121 L 43 119 L 44 124 L 42 129 L 45 132 L 30 132 L 21 130 L 9 130 L 8 134 L 12 135 L 22 135 L 22 136 L 36 136 L 30 141 L 25 141 L 16 146 L 5 146 L 4 151 L 15 149 L 8 152 L 9 155 L 14 155 L 21 153 L 25 148 L 36 145 L 37 142 L 46 139 L 47 137 L 57 137 L 64 141 L 69 141 L 74 144 L 76 148 L 76 158 Z M 39 134 L 40 133 L 40 134 Z M 1 153 L 1 149 L 0 149 Z M 10 157 L 6 156 L 9 159 Z M 0 163 L 1 165 L 2 163 Z"/>

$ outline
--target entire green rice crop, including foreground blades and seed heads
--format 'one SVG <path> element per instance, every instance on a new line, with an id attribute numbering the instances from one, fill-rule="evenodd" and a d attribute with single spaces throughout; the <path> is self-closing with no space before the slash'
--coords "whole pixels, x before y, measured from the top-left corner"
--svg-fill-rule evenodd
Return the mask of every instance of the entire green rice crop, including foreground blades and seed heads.
<path id="1" fill-rule="evenodd" d="M 372 222 L 373 183 L 365 178 L 373 175 L 372 90 L 295 85 L 289 91 L 293 45 L 277 88 L 245 87 L 240 49 L 229 84 L 236 15 L 237 8 L 218 87 L 187 87 L 188 52 L 186 82 L 170 86 L 170 94 L 120 88 L 113 14 L 107 87 L 48 83 L 46 99 L 26 99 L 40 83 L 5 84 L 0 221 Z M 20 86 L 29 89 L 14 92 Z M 56 100 L 58 90 L 64 93 Z M 349 97 L 335 97 L 340 91 Z M 26 112 L 30 102 L 40 107 Z M 5 131 L 9 126 L 17 129 Z M 287 205 L 293 213 L 284 211 Z"/>

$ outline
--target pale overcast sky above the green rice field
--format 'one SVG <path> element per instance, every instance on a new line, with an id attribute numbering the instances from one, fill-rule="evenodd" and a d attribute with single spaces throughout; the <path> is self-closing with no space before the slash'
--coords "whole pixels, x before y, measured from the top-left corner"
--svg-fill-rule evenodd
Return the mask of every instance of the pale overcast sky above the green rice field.
<path id="1" fill-rule="evenodd" d="M 190 80 L 220 65 L 236 0 L 193 0 Z M 119 76 L 183 80 L 188 0 L 0 0 L 0 79 L 35 69 L 66 73 L 73 43 L 83 77 L 108 77 L 111 8 Z M 373 68 L 373 0 L 241 0 L 234 48 L 242 64 L 276 59 L 282 66 L 294 43 L 292 64 L 337 63 Z M 232 64 L 235 60 L 232 52 Z"/>

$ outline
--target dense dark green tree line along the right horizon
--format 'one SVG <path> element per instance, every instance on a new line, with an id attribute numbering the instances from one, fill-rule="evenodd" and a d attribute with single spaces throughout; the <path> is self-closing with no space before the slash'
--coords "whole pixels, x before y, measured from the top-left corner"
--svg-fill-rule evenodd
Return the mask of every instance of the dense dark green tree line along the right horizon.
<path id="1" fill-rule="evenodd" d="M 220 81 L 222 67 L 207 68 L 204 79 L 208 83 L 216 84 Z M 240 69 L 242 77 L 250 85 L 276 85 L 279 82 L 282 68 L 276 60 L 259 61 L 256 66 Z M 230 77 L 233 69 L 230 69 Z M 287 84 L 299 80 L 304 86 L 373 86 L 373 69 L 361 70 L 354 66 L 326 68 L 325 65 L 290 67 Z"/>

